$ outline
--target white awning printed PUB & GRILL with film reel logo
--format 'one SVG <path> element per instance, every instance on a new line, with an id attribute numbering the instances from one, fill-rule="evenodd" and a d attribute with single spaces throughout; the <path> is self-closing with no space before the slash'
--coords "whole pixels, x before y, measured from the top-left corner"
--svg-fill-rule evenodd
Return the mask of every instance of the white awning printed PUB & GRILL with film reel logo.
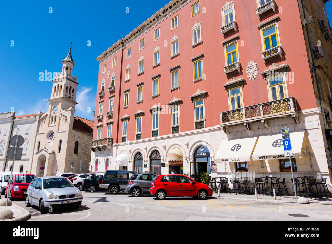
<path id="1" fill-rule="evenodd" d="M 223 140 L 214 156 L 214 162 L 247 162 L 250 161 L 252 150 L 256 144 L 256 137 L 234 140 Z"/>

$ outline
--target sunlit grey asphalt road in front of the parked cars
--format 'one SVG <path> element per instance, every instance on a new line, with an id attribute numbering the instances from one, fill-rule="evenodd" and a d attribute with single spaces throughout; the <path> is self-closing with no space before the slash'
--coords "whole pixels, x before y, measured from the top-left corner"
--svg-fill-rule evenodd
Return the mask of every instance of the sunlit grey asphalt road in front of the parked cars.
<path id="1" fill-rule="evenodd" d="M 78 208 L 54 209 L 41 214 L 36 206 L 26 207 L 24 199 L 16 204 L 28 209 L 27 221 L 330 221 L 332 205 L 321 203 L 296 204 L 228 200 L 210 197 L 198 200 L 191 197 L 166 198 L 158 201 L 152 196 L 133 198 L 129 194 L 111 195 L 107 192 L 83 192 Z M 293 217 L 303 214 L 308 217 Z"/>

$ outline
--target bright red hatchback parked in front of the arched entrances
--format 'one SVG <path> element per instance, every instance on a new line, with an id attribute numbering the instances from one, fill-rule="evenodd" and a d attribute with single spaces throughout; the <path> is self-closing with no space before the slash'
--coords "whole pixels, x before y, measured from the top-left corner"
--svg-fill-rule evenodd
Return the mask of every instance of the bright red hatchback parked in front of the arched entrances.
<path id="1" fill-rule="evenodd" d="M 198 197 L 203 200 L 212 196 L 212 188 L 185 175 L 158 175 L 151 182 L 150 193 L 158 200 L 166 197 Z"/>

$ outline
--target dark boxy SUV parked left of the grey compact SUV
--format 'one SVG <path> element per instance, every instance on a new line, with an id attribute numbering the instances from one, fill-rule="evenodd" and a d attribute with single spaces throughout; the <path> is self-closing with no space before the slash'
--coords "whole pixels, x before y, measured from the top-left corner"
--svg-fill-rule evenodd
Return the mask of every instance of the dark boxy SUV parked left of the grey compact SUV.
<path id="1" fill-rule="evenodd" d="M 118 194 L 120 191 L 125 191 L 128 180 L 133 174 L 137 173 L 127 170 L 107 170 L 99 188 L 107 190 L 111 194 Z"/>

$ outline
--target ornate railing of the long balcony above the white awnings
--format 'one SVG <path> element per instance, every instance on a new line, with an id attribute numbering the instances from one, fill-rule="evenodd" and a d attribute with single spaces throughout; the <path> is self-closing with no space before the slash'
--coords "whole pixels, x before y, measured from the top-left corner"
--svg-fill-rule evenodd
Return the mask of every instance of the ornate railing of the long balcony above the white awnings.
<path id="1" fill-rule="evenodd" d="M 227 126 L 289 115 L 297 119 L 296 99 L 293 97 L 222 112 L 220 125 Z"/>

